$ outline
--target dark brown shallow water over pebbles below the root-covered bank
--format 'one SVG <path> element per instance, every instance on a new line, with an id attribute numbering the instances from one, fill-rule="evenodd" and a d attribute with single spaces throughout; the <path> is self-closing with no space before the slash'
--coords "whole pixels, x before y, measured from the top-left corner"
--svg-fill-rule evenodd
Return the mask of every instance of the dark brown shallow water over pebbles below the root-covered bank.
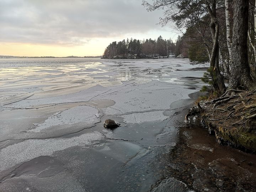
<path id="1" fill-rule="evenodd" d="M 190 95 L 193 101 L 201 93 Z M 161 156 L 162 178 L 151 191 L 251 191 L 256 187 L 255 154 L 220 145 L 199 118 L 183 122 L 189 107 L 178 112 L 176 145 Z M 225 155 L 223 155 L 225 154 Z M 176 183 L 176 185 L 173 185 Z M 179 188 L 177 188 L 177 186 Z"/>

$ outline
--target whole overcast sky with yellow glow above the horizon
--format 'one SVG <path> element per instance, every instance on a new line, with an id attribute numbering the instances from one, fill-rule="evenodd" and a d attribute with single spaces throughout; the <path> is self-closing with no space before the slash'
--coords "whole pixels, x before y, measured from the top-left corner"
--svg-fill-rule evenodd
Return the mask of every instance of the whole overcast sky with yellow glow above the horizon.
<path id="1" fill-rule="evenodd" d="M 142 0 L 0 0 L 0 55 L 96 56 L 131 37 L 175 40 L 161 16 Z"/>

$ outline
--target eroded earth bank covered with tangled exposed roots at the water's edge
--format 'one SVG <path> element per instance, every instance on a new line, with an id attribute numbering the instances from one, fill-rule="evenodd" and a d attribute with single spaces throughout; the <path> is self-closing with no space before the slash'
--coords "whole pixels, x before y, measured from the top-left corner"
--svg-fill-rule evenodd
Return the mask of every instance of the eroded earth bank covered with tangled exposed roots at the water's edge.
<path id="1" fill-rule="evenodd" d="M 229 96 L 229 92 L 237 94 Z M 219 143 L 256 151 L 256 89 L 228 90 L 220 98 L 201 101 L 190 109 L 186 121 L 194 115 L 202 117 L 209 133 L 215 133 Z"/>

